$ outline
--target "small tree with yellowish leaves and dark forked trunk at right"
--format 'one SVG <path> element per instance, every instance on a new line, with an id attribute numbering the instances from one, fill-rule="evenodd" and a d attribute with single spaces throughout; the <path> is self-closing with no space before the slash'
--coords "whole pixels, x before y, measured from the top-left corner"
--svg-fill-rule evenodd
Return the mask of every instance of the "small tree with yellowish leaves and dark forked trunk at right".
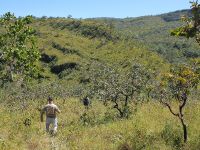
<path id="1" fill-rule="evenodd" d="M 170 73 L 165 74 L 163 81 L 161 82 L 161 103 L 168 107 L 171 114 L 176 116 L 183 127 L 183 138 L 184 142 L 187 142 L 187 126 L 184 120 L 184 108 L 187 104 L 188 97 L 200 80 L 200 74 L 196 68 L 187 66 L 179 66 L 173 68 Z M 164 88 L 163 88 L 164 87 Z M 179 103 L 177 111 L 172 109 L 170 101 L 175 99 Z"/>

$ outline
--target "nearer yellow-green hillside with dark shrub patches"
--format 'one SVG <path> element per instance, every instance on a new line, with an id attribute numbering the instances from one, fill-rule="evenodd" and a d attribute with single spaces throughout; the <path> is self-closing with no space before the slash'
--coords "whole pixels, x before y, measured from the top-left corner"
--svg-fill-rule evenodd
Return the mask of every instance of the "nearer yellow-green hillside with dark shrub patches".
<path id="1" fill-rule="evenodd" d="M 43 75 L 47 77 L 71 79 L 72 72 L 80 73 L 80 68 L 93 61 L 119 68 L 133 59 L 144 65 L 151 62 L 152 68 L 165 64 L 163 58 L 140 42 L 124 40 L 117 29 L 98 21 L 41 18 L 35 19 L 32 26 L 42 53 Z"/>

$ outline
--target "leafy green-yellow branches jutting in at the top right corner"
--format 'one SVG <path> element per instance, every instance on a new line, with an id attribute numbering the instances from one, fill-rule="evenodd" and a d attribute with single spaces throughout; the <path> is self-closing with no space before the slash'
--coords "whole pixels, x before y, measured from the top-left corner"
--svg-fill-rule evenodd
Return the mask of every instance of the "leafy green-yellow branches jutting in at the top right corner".
<path id="1" fill-rule="evenodd" d="M 181 19 L 186 25 L 171 32 L 171 35 L 195 38 L 200 44 L 200 4 L 198 0 L 191 2 L 192 17 L 183 16 Z"/>

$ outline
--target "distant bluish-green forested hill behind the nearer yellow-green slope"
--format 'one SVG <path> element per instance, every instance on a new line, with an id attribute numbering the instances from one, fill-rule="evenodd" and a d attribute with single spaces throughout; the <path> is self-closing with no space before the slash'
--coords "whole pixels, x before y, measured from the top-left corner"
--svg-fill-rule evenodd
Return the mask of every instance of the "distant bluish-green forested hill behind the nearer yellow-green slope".
<path id="1" fill-rule="evenodd" d="M 191 16 L 190 10 L 180 10 L 157 16 L 138 18 L 96 18 L 114 26 L 126 39 L 141 42 L 170 63 L 185 62 L 188 58 L 200 56 L 198 45 L 193 40 L 170 36 L 170 30 L 180 26 L 181 16 Z"/>

